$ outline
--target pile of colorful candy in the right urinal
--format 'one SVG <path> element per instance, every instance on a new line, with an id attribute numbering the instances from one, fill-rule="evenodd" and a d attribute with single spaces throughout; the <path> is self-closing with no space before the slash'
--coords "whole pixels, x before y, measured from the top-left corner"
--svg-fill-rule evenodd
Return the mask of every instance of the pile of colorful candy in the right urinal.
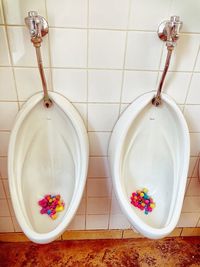
<path id="1" fill-rule="evenodd" d="M 145 214 L 152 212 L 156 204 L 153 199 L 147 194 L 148 189 L 143 188 L 132 193 L 131 204 L 140 210 L 144 210 Z"/>

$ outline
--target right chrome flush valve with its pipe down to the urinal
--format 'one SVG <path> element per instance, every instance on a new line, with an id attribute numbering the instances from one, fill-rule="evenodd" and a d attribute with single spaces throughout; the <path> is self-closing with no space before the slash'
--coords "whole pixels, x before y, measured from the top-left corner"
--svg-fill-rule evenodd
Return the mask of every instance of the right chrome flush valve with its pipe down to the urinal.
<path id="1" fill-rule="evenodd" d="M 162 77 L 158 86 L 157 94 L 152 99 L 152 104 L 154 106 L 159 106 L 161 104 L 161 91 L 163 87 L 163 83 L 165 81 L 165 77 L 169 68 L 172 51 L 176 46 L 176 42 L 179 38 L 179 32 L 182 27 L 182 22 L 178 16 L 172 16 L 169 21 L 162 22 L 158 27 L 158 36 L 159 38 L 166 42 L 167 46 L 167 58 L 165 61 L 165 67 L 162 73 Z"/>

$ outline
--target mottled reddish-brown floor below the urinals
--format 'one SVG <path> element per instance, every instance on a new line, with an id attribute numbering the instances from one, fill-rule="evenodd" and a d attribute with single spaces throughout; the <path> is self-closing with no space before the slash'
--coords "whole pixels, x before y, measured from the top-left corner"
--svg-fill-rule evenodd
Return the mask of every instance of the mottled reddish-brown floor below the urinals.
<path id="1" fill-rule="evenodd" d="M 200 266 L 200 237 L 0 243 L 0 266 Z"/>

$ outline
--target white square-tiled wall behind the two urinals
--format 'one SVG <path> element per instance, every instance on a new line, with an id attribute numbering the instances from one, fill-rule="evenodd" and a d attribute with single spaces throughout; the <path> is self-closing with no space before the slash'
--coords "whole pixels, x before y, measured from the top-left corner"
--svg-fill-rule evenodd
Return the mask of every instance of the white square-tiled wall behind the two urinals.
<path id="1" fill-rule="evenodd" d="M 108 171 L 107 146 L 120 112 L 155 90 L 166 48 L 159 23 L 184 23 L 165 92 L 180 105 L 191 133 L 191 164 L 181 227 L 200 226 L 199 0 L 3 0 L 0 9 L 0 232 L 19 231 L 8 191 L 7 147 L 17 111 L 41 82 L 24 17 L 37 10 L 50 32 L 42 43 L 49 90 L 65 95 L 82 115 L 90 140 L 87 186 L 69 229 L 128 228 Z"/>

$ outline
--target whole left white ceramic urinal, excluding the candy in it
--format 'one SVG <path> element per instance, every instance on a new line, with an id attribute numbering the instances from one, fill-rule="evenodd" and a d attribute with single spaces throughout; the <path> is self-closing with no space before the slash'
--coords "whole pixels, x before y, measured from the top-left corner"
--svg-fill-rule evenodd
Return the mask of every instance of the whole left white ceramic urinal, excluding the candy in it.
<path id="1" fill-rule="evenodd" d="M 55 240 L 72 220 L 81 201 L 88 167 L 88 137 L 72 104 L 50 93 L 32 96 L 19 112 L 10 137 L 9 187 L 18 223 L 36 243 Z M 64 211 L 57 219 L 41 215 L 38 200 L 60 194 Z"/>

